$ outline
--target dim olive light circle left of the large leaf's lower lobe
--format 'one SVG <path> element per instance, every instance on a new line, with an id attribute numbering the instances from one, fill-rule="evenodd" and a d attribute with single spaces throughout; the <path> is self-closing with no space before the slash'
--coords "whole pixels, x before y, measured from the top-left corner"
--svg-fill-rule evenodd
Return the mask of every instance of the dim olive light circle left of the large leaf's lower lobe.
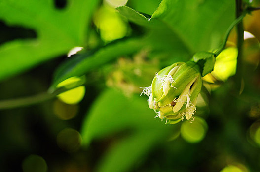
<path id="1" fill-rule="evenodd" d="M 75 152 L 81 146 L 82 138 L 78 131 L 65 128 L 57 135 L 58 146 L 66 152 Z"/>

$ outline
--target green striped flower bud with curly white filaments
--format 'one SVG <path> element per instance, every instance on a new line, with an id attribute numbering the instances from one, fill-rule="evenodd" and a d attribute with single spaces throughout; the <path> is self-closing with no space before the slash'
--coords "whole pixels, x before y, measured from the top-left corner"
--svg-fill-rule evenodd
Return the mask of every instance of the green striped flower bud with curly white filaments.
<path id="1" fill-rule="evenodd" d="M 201 90 L 199 66 L 192 62 L 177 62 L 155 73 L 152 85 L 143 88 L 149 96 L 148 105 L 166 123 L 177 123 L 193 118 L 196 100 Z M 141 95 L 142 95 L 141 94 Z"/>

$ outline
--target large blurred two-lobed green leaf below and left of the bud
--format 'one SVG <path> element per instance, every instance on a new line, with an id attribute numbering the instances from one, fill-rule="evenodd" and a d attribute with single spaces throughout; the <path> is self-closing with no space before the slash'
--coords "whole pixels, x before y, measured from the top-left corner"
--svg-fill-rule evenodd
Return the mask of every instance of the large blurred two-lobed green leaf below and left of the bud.
<path id="1" fill-rule="evenodd" d="M 113 89 L 103 92 L 83 121 L 83 145 L 124 130 L 129 131 L 129 135 L 111 146 L 98 171 L 126 171 L 153 146 L 165 142 L 169 133 L 178 126 L 165 125 L 160 119 L 154 119 L 155 115 L 145 99 L 139 96 L 127 98 Z"/>

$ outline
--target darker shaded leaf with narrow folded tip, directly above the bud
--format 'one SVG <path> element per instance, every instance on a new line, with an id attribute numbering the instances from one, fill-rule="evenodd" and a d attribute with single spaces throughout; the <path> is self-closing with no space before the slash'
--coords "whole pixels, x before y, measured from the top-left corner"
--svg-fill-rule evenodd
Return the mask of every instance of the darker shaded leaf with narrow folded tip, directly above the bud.
<path id="1" fill-rule="evenodd" d="M 144 41 L 151 49 L 151 57 L 163 56 L 165 59 L 167 57 L 170 60 L 174 59 L 171 62 L 187 60 L 191 57 L 192 52 L 188 45 L 179 35 L 169 29 L 166 23 L 158 20 L 150 22 L 145 16 L 127 6 L 118 7 L 117 10 L 128 20 L 149 28 Z M 169 59 L 166 60 L 169 61 Z"/>

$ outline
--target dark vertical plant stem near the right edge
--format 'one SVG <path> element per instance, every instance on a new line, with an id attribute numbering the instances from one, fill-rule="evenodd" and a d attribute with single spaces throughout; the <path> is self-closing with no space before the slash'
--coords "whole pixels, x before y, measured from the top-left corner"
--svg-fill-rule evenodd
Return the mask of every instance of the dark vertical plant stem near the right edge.
<path id="1" fill-rule="evenodd" d="M 242 0 L 236 0 L 236 16 L 244 15 L 245 12 L 243 12 L 242 7 Z M 243 68 L 242 68 L 242 54 L 243 54 L 243 43 L 244 43 L 244 27 L 243 27 L 243 21 L 238 23 L 237 25 L 237 65 L 236 65 L 236 76 L 235 76 L 235 83 L 237 90 L 239 91 L 239 94 L 241 94 L 241 84 L 242 84 L 242 74 L 243 74 Z"/>

